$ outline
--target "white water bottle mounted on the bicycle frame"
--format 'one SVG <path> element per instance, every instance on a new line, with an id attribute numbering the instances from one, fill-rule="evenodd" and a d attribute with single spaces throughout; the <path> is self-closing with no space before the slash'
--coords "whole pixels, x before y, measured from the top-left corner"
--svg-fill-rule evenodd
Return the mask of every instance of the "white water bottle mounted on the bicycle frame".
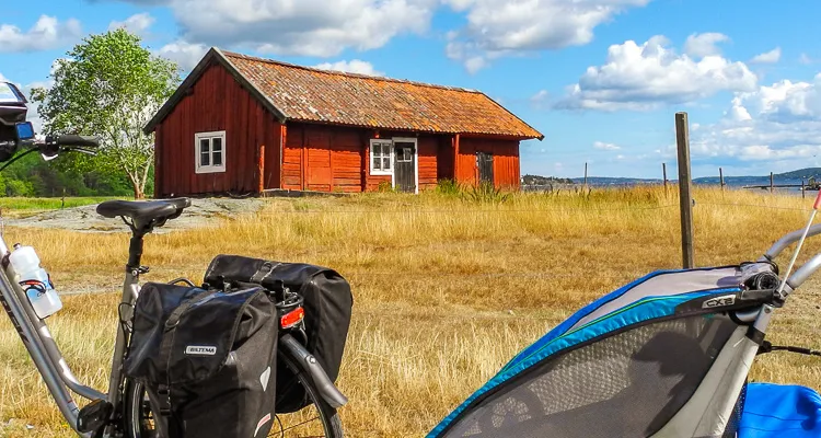
<path id="1" fill-rule="evenodd" d="M 46 319 L 62 309 L 62 302 L 54 290 L 51 278 L 46 269 L 39 266 L 39 257 L 32 246 L 15 244 L 9 262 L 18 274 L 18 281 L 37 316 Z"/>

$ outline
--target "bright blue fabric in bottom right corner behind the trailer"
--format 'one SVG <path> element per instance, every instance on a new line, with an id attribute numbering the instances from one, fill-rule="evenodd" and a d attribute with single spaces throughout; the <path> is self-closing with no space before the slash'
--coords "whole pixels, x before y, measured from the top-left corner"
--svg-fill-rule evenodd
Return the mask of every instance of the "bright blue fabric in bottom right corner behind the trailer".
<path id="1" fill-rule="evenodd" d="M 750 383 L 739 438 L 821 437 L 821 395 L 805 387 Z"/>

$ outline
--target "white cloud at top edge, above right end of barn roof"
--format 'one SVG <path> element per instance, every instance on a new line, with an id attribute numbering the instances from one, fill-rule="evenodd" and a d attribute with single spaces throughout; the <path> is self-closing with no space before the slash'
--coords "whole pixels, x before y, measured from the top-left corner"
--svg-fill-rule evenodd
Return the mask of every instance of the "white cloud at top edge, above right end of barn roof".
<path id="1" fill-rule="evenodd" d="M 448 35 L 448 57 L 475 72 L 501 56 L 586 45 L 597 26 L 650 0 L 442 1 L 467 12 L 467 25 Z"/>

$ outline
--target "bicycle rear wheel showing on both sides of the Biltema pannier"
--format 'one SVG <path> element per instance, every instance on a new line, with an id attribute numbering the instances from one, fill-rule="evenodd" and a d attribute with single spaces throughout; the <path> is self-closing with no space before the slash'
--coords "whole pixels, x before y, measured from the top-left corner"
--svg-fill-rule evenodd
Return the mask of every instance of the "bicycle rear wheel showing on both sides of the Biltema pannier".
<path id="1" fill-rule="evenodd" d="M 310 404 L 292 414 L 277 414 L 268 437 L 278 438 L 344 438 L 342 422 L 336 410 L 331 407 L 319 395 L 310 374 L 289 354 L 279 353 L 280 360 L 297 377 L 292 384 L 301 384 L 308 394 Z M 154 415 L 148 402 L 148 394 L 142 383 L 128 381 L 124 403 L 126 438 L 158 438 L 154 428 Z"/>

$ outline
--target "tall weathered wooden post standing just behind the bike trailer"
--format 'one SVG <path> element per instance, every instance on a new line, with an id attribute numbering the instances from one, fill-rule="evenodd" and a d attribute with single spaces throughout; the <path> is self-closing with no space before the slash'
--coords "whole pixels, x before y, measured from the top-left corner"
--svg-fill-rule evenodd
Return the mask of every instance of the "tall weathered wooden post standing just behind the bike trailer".
<path id="1" fill-rule="evenodd" d="M 690 125 L 687 113 L 675 113 L 675 142 L 679 148 L 679 203 L 681 207 L 681 254 L 685 269 L 695 267 L 693 250 L 693 197 L 690 174 Z"/>

